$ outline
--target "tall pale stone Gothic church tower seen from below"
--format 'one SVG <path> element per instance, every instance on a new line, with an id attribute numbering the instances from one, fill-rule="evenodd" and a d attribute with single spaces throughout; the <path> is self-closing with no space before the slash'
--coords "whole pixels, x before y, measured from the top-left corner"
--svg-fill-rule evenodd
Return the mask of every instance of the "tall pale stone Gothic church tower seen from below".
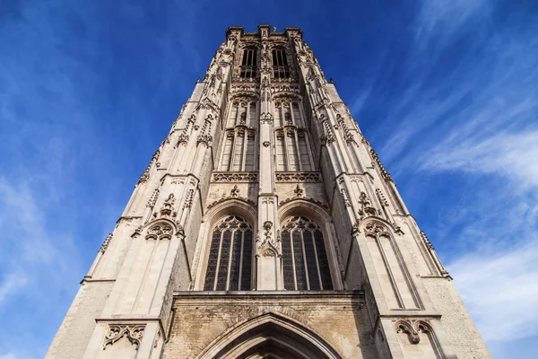
<path id="1" fill-rule="evenodd" d="M 489 358 L 299 28 L 230 27 L 47 358 Z"/>

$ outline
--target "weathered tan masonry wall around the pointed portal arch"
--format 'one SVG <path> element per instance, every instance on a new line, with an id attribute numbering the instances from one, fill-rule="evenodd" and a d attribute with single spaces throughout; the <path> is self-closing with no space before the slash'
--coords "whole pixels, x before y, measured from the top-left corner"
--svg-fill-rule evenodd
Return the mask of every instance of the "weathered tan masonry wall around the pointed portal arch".
<path id="1" fill-rule="evenodd" d="M 231 341 L 233 328 L 265 314 L 308 328 L 343 358 L 379 357 L 360 293 L 176 293 L 173 309 L 171 336 L 163 355 L 166 359 L 198 357 L 215 339 Z"/>

